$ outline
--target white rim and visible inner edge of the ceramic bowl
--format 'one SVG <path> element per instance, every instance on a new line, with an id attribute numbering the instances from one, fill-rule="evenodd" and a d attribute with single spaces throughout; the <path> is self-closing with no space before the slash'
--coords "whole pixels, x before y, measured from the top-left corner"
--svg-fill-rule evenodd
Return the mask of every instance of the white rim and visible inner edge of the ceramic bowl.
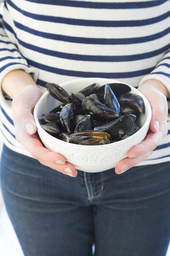
<path id="1" fill-rule="evenodd" d="M 83 84 L 84 82 L 84 84 Z M 98 83 L 99 86 L 104 85 L 105 83 L 124 83 L 124 82 L 120 82 L 120 81 L 116 81 L 114 79 L 107 79 L 107 78 L 80 78 L 80 79 L 75 79 L 75 80 L 71 80 L 65 83 L 60 84 L 60 86 L 62 86 L 68 93 L 71 94 L 71 92 L 75 92 L 76 90 L 71 90 L 71 86 L 74 85 L 74 87 L 77 87 L 77 85 L 79 85 L 78 90 L 80 91 L 81 89 L 83 89 L 84 87 L 92 84 L 92 83 Z M 126 83 L 124 83 L 126 84 Z M 129 84 L 127 84 L 129 85 Z M 67 86 L 69 86 L 69 90 L 67 88 Z M 140 134 L 142 134 L 143 132 L 146 131 L 146 129 L 148 129 L 149 127 L 149 123 L 151 120 L 151 107 L 150 107 L 150 103 L 147 100 L 147 98 L 145 97 L 145 95 L 143 95 L 139 90 L 135 89 L 133 86 L 129 85 L 131 87 L 131 92 L 130 93 L 136 93 L 138 95 L 140 95 L 143 98 L 143 101 L 145 103 L 145 113 L 142 113 L 143 118 L 146 118 L 145 123 L 143 123 L 141 129 L 134 133 L 133 135 L 131 135 L 129 138 L 126 138 L 124 140 L 121 141 L 117 141 L 114 143 L 109 143 L 106 145 L 94 145 L 94 146 L 87 146 L 87 145 L 77 145 L 77 144 L 73 144 L 73 143 L 67 143 L 65 141 L 59 140 L 57 138 L 54 138 L 52 135 L 48 134 L 40 125 L 39 123 L 39 117 L 42 114 L 47 114 L 49 113 L 50 110 L 53 109 L 53 107 L 47 111 L 46 113 L 43 112 L 43 110 L 41 110 L 41 106 L 42 105 L 47 105 L 47 103 L 49 103 L 51 100 L 54 101 L 55 99 L 48 93 L 45 92 L 40 99 L 38 100 L 33 115 L 35 117 L 35 121 L 36 121 L 36 125 L 37 125 L 37 129 L 39 130 L 39 132 L 41 133 L 41 135 L 44 135 L 44 137 L 46 137 L 48 140 L 55 142 L 57 145 L 61 145 L 64 148 L 69 148 L 69 149 L 81 149 L 81 150 L 88 150 L 88 151 L 98 151 L 98 150 L 107 150 L 107 149 L 111 149 L 111 148 L 118 148 L 122 145 L 125 145 L 126 143 L 129 143 L 130 141 L 134 140 L 135 138 L 138 138 Z M 56 101 L 56 106 L 60 105 L 61 102 L 60 101 Z M 46 103 L 45 103 L 46 102 Z"/>

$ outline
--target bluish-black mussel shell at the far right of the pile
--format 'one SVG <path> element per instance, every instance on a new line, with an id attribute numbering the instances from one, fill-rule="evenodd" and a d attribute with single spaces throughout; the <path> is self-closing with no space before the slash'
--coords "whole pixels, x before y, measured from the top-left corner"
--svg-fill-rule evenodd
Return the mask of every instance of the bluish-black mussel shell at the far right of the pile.
<path id="1" fill-rule="evenodd" d="M 142 113 L 144 110 L 144 101 L 140 95 L 133 93 L 126 93 L 119 99 L 121 105 L 128 106 L 135 111 Z"/>

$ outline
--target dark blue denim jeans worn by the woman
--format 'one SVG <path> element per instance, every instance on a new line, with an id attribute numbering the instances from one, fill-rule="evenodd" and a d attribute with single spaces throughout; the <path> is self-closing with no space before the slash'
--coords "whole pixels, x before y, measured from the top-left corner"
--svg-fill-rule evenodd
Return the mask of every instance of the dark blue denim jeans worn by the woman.
<path id="1" fill-rule="evenodd" d="M 170 163 L 72 178 L 3 148 L 1 186 L 25 256 L 164 256 Z"/>

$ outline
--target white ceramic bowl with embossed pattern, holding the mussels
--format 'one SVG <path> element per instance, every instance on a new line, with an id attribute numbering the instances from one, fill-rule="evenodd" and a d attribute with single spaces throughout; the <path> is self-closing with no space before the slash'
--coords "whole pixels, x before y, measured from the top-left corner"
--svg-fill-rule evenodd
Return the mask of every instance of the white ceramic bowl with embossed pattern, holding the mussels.
<path id="1" fill-rule="evenodd" d="M 60 86 L 71 94 L 71 92 L 78 92 L 92 83 L 98 83 L 98 85 L 101 86 L 106 83 L 115 82 L 120 83 L 113 79 L 82 78 L 62 83 Z M 45 92 L 38 100 L 34 110 L 38 134 L 41 141 L 50 151 L 55 151 L 63 155 L 66 161 L 72 163 L 78 170 L 85 172 L 101 172 L 113 168 L 121 159 L 128 156 L 128 151 L 131 147 L 145 139 L 149 129 L 151 119 L 149 101 L 140 91 L 132 86 L 130 87 L 131 93 L 140 95 L 145 103 L 145 111 L 141 114 L 138 124 L 141 129 L 131 135 L 131 137 L 107 145 L 97 146 L 75 145 L 52 137 L 52 135 L 45 132 L 40 126 L 39 117 L 41 117 L 42 114 L 48 114 L 52 109 L 60 105 L 61 102 L 50 96 L 48 92 Z"/>

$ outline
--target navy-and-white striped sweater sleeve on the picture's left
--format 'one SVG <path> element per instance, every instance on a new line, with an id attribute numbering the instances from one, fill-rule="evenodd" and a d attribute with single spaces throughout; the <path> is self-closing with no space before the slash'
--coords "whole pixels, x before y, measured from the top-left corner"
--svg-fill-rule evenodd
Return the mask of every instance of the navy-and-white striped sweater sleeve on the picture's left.
<path id="1" fill-rule="evenodd" d="M 15 40 L 14 35 L 10 31 L 7 30 L 7 33 L 5 32 L 3 15 L 0 14 L 0 84 L 5 75 L 15 69 L 23 69 L 25 72 L 31 73 L 33 79 L 37 81 L 38 70 L 28 66 L 27 61 L 19 52 Z M 2 90 L 0 90 L 0 102 L 1 105 L 11 108 L 9 102 L 3 97 Z"/>

